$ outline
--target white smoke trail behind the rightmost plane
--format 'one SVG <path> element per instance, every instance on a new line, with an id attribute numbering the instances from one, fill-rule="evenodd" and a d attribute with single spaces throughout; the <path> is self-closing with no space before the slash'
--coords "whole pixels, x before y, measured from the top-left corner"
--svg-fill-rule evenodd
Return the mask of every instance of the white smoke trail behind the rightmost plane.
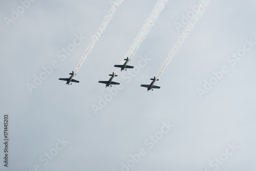
<path id="1" fill-rule="evenodd" d="M 200 5 L 200 8 L 199 8 L 198 12 L 196 13 L 195 17 L 193 18 L 193 20 L 191 20 L 189 25 L 186 27 L 185 31 L 183 32 L 182 36 L 179 38 L 179 41 L 175 45 L 174 49 L 172 50 L 172 52 L 170 52 L 169 56 L 165 60 L 163 67 L 161 68 L 160 72 L 157 75 L 157 79 L 162 74 L 165 67 L 168 65 L 170 59 L 172 59 L 172 57 L 175 55 L 175 53 L 181 46 L 182 42 L 184 41 L 184 39 L 187 37 L 188 33 L 190 33 L 191 30 L 194 28 L 195 24 L 198 22 L 198 19 L 202 16 L 205 8 L 209 5 L 210 1 L 211 0 L 206 0 L 202 5 Z"/>

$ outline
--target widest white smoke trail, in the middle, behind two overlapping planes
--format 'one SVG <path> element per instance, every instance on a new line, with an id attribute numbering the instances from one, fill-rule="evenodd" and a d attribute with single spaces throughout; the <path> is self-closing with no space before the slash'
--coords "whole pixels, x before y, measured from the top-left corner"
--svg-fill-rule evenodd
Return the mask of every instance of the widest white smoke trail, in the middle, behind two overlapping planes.
<path id="1" fill-rule="evenodd" d="M 135 54 L 135 52 L 137 51 L 137 49 L 139 48 L 140 44 L 142 43 L 142 41 L 145 39 L 146 35 L 148 34 L 148 32 L 150 31 L 151 27 L 154 25 L 155 21 L 157 20 L 159 14 L 162 12 L 162 10 L 164 9 L 164 5 L 167 3 L 167 0 L 158 0 L 158 2 L 156 3 L 154 9 L 151 11 L 150 15 L 148 16 L 146 22 L 144 23 L 144 25 L 142 26 L 142 28 L 140 29 L 138 35 L 136 36 L 136 38 L 133 41 L 133 44 L 131 45 L 131 47 L 129 48 L 129 50 L 126 52 L 124 58 L 126 58 L 127 56 L 130 55 L 129 59 L 131 59 L 133 57 L 133 55 Z M 124 63 L 124 61 L 121 62 L 121 65 Z M 115 72 L 115 74 L 117 74 L 117 72 L 120 70 L 120 68 L 118 68 Z"/>

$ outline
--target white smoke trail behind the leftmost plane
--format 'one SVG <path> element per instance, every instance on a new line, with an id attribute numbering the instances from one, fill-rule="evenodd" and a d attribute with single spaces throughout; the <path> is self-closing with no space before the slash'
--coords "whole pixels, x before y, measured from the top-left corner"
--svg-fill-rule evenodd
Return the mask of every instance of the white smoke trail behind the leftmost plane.
<path id="1" fill-rule="evenodd" d="M 104 17 L 104 20 L 101 24 L 101 26 L 99 27 L 99 29 L 97 30 L 96 34 L 93 36 L 92 41 L 90 43 L 90 45 L 88 46 L 86 52 L 82 55 L 81 59 L 79 60 L 79 63 L 75 69 L 74 73 L 77 73 L 78 69 L 81 67 L 82 62 L 84 60 L 86 60 L 87 55 L 91 52 L 91 50 L 93 49 L 93 46 L 95 44 L 95 42 L 98 40 L 98 38 L 100 37 L 100 34 L 105 30 L 106 26 L 109 24 L 110 19 L 113 17 L 113 14 L 115 13 L 117 7 L 123 2 L 124 0 L 117 0 L 113 6 L 111 7 L 110 11 L 108 11 L 108 14 Z"/>

